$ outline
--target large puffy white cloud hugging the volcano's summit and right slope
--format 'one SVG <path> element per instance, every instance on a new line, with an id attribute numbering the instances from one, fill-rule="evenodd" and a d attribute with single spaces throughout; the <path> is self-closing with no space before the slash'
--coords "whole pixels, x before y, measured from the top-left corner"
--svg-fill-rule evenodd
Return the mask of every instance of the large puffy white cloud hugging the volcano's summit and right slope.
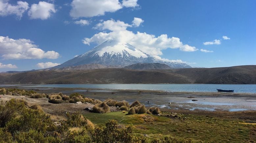
<path id="1" fill-rule="evenodd" d="M 133 33 L 127 28 L 132 27 L 122 21 L 107 20 L 98 23 L 94 28 L 99 30 L 109 30 L 110 32 L 99 32 L 90 38 L 84 38 L 83 43 L 90 45 L 90 43 L 100 44 L 105 40 L 114 39 L 121 43 L 129 43 L 141 51 L 150 54 L 151 56 L 162 55 L 162 50 L 167 48 L 180 49 L 181 51 L 197 51 L 193 46 L 184 45 L 177 37 L 168 37 L 167 34 L 155 36 L 146 32 Z"/>

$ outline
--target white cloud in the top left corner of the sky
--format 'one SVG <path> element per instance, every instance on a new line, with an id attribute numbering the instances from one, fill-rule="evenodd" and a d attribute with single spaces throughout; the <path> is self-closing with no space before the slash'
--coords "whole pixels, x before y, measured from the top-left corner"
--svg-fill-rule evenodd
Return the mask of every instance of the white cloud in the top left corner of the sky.
<path id="1" fill-rule="evenodd" d="M 18 1 L 17 5 L 12 5 L 8 1 L 0 0 L 0 16 L 15 14 L 18 18 L 21 18 L 23 13 L 29 8 L 27 2 Z"/>

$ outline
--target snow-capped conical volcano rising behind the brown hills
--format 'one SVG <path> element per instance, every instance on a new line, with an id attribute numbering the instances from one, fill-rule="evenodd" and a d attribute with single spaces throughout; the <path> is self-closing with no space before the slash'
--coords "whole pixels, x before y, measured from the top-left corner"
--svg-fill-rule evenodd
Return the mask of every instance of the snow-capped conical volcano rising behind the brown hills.
<path id="1" fill-rule="evenodd" d="M 102 64 L 127 66 L 136 63 L 164 63 L 171 68 L 192 68 L 185 63 L 167 62 L 156 59 L 128 43 L 107 40 L 92 50 L 64 62 L 54 68 L 78 66 L 84 64 Z"/>

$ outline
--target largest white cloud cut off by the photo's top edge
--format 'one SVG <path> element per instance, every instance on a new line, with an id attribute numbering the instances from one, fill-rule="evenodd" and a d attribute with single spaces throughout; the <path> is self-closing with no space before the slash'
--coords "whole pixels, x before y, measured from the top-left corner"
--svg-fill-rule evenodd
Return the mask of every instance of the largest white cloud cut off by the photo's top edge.
<path id="1" fill-rule="evenodd" d="M 118 0 L 73 0 L 71 6 L 73 18 L 99 16 L 122 9 Z"/>

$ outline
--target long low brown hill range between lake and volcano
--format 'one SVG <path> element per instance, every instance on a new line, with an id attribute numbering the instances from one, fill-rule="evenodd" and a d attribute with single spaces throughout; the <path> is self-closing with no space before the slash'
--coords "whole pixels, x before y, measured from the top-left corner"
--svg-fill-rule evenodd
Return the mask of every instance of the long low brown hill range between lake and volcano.
<path id="1" fill-rule="evenodd" d="M 49 70 L 0 74 L 0 84 L 256 84 L 256 66 L 170 70 Z"/>

